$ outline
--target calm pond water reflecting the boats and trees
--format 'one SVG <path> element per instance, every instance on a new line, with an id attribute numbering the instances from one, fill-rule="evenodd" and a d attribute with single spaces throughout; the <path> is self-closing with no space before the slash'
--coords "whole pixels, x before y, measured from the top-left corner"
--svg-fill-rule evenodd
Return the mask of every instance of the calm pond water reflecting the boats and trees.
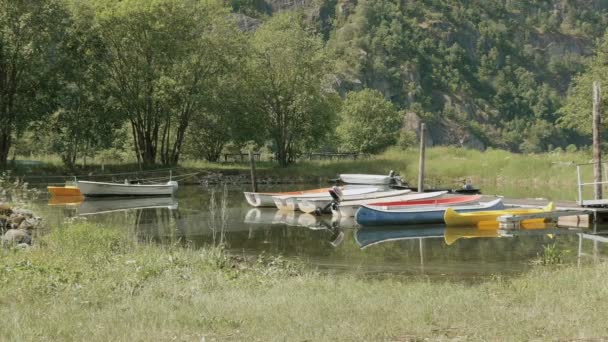
<path id="1" fill-rule="evenodd" d="M 67 218 L 78 218 L 124 226 L 132 229 L 141 241 L 196 247 L 224 241 L 232 253 L 281 255 L 309 262 L 324 271 L 362 276 L 476 279 L 525 272 L 542 260 L 543 253 L 559 255 L 566 263 L 595 262 L 608 253 L 608 244 L 589 240 L 590 236 L 579 234 L 580 231 L 549 227 L 503 236 L 442 226 L 357 228 L 352 220 L 332 221 L 331 216 L 251 208 L 242 190 L 232 186 L 224 196 L 222 188 L 185 186 L 175 199 L 102 199 L 80 204 L 52 203 L 43 193 L 36 203 L 51 226 Z M 507 196 L 518 196 L 520 191 L 522 189 L 484 189 L 486 194 L 502 192 Z M 570 199 L 574 191 L 528 189 L 527 193 L 528 197 Z M 223 212 L 222 199 L 226 201 Z M 211 209 L 214 203 L 215 210 Z"/>

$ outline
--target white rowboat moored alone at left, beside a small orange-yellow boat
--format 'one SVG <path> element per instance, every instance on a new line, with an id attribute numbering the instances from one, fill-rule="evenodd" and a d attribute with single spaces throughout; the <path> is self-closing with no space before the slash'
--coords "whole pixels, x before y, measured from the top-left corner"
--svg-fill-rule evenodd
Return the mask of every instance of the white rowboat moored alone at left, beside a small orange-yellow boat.
<path id="1" fill-rule="evenodd" d="M 177 191 L 177 182 L 166 184 L 120 184 L 78 181 L 84 196 L 172 196 Z"/>

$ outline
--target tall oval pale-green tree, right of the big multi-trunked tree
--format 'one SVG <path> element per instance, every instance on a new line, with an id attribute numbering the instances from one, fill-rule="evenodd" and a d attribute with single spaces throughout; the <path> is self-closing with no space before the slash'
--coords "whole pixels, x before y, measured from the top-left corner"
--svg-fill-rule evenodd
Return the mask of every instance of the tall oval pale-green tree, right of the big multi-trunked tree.
<path id="1" fill-rule="evenodd" d="M 277 160 L 287 166 L 299 150 L 319 144 L 335 118 L 335 92 L 327 85 L 321 38 L 298 13 L 274 16 L 253 37 L 252 104 L 268 128 Z"/>

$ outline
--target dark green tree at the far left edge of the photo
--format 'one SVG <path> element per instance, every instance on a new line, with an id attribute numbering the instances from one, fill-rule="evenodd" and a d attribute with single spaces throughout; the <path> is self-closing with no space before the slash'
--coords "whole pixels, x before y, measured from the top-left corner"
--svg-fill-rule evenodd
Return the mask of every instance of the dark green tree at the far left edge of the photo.
<path id="1" fill-rule="evenodd" d="M 0 169 L 13 139 L 56 108 L 69 13 L 56 0 L 0 0 Z"/>

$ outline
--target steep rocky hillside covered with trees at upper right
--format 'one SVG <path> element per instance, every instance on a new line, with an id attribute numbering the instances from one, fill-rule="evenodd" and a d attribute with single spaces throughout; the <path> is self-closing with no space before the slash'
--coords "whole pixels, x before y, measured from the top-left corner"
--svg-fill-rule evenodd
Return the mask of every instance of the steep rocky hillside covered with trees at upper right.
<path id="1" fill-rule="evenodd" d="M 318 6 L 316 20 L 330 23 L 317 26 L 328 37 L 342 92 L 380 90 L 413 113 L 406 116 L 408 127 L 416 127 L 417 118 L 430 124 L 433 142 L 523 152 L 586 143 L 584 135 L 555 124 L 573 76 L 585 69 L 585 57 L 604 34 L 608 3 L 362 0 Z"/>

